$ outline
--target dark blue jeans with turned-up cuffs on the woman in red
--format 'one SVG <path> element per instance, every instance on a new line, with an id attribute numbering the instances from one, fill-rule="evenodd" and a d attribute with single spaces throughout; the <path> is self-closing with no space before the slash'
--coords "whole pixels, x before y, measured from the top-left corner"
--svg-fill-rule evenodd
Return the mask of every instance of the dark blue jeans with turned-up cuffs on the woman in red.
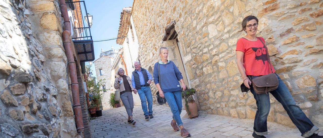
<path id="1" fill-rule="evenodd" d="M 287 111 L 289 118 L 302 133 L 302 136 L 309 137 L 318 130 L 318 127 L 314 126 L 314 124 L 307 118 L 305 113 L 296 105 L 294 98 L 290 94 L 284 82 L 277 74 L 276 76 L 279 82 L 278 88 L 269 93 L 271 93 L 276 98 L 276 100 L 283 105 L 284 109 Z M 251 76 L 251 79 L 256 77 L 259 76 Z M 258 109 L 255 116 L 254 132 L 257 135 L 266 135 L 267 116 L 270 109 L 269 95 L 266 93 L 256 94 L 252 86 L 250 88 L 250 91 L 252 94 L 254 94 Z"/>

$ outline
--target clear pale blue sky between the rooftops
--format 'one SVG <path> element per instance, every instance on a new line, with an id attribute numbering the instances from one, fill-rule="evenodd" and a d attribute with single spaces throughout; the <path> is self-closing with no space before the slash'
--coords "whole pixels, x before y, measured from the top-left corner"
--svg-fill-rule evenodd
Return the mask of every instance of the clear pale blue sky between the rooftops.
<path id="1" fill-rule="evenodd" d="M 122 8 L 132 6 L 132 3 L 133 0 L 85 0 L 88 13 L 93 15 L 92 39 L 95 41 L 117 37 Z M 99 58 L 101 48 L 108 51 L 111 49 L 111 45 L 114 49 L 121 47 L 116 43 L 116 40 L 94 42 L 95 60 Z M 96 76 L 93 64 L 91 69 L 93 75 Z"/>

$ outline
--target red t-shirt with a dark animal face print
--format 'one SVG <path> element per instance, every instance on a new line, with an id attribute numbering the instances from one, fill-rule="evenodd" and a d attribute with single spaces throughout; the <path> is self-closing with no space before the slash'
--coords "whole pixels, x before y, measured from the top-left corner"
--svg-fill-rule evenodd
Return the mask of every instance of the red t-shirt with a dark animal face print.
<path id="1" fill-rule="evenodd" d="M 258 37 L 257 41 L 249 41 L 245 38 L 240 38 L 237 42 L 235 51 L 242 51 L 244 54 L 243 66 L 245 67 L 245 74 L 252 76 L 261 76 L 271 73 L 269 68 L 269 60 L 266 55 L 266 46 L 259 40 L 261 39 L 264 43 L 265 40 L 262 37 Z M 275 69 L 270 65 L 273 73 Z"/>

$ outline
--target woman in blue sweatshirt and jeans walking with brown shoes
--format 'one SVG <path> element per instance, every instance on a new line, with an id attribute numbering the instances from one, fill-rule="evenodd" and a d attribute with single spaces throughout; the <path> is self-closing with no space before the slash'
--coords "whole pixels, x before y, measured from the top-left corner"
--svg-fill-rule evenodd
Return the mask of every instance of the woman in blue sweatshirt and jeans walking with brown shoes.
<path id="1" fill-rule="evenodd" d="M 174 131 L 179 131 L 179 126 L 181 128 L 181 136 L 188 137 L 190 133 L 183 127 L 180 116 L 182 112 L 182 88 L 184 90 L 186 89 L 182 73 L 178 70 L 174 62 L 167 60 L 168 49 L 166 47 L 160 48 L 159 55 L 161 56 L 161 60 L 154 65 L 154 83 L 158 88 L 159 95 L 162 98 L 166 98 L 168 105 L 171 107 L 173 113 L 171 126 Z"/>

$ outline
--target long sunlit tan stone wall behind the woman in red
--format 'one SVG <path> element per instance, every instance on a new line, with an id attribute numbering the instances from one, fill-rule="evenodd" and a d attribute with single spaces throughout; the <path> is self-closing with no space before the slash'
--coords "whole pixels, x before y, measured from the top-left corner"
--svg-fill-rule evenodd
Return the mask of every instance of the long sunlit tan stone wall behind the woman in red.
<path id="1" fill-rule="evenodd" d="M 276 73 L 311 121 L 323 127 L 323 2 L 321 0 L 170 0 L 134 1 L 132 17 L 139 40 L 139 59 L 152 67 L 159 59 L 165 26 L 176 21 L 179 47 L 199 109 L 207 113 L 253 119 L 255 99 L 240 91 L 235 47 L 245 36 L 241 22 L 259 19 Z M 268 121 L 295 126 L 270 94 Z"/>

